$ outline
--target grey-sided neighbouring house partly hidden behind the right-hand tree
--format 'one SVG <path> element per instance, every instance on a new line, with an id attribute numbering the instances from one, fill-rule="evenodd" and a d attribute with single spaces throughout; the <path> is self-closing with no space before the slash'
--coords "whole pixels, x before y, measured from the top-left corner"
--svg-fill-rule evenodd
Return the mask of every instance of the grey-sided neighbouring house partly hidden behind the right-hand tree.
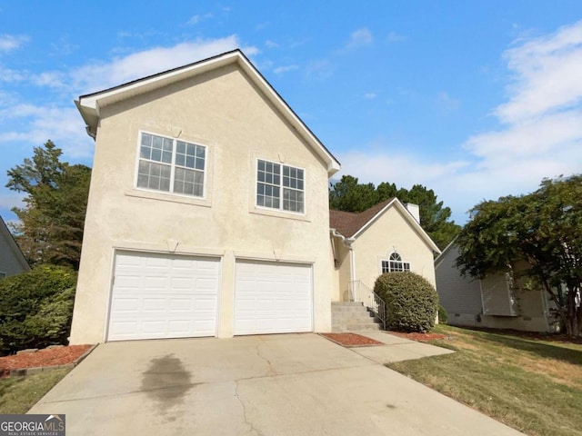
<path id="1" fill-rule="evenodd" d="M 463 277 L 455 265 L 458 254 L 453 242 L 435 261 L 437 292 L 449 324 L 555 332 L 553 304 L 546 291 L 524 289 L 510 273 L 487 275 L 483 280 Z"/>

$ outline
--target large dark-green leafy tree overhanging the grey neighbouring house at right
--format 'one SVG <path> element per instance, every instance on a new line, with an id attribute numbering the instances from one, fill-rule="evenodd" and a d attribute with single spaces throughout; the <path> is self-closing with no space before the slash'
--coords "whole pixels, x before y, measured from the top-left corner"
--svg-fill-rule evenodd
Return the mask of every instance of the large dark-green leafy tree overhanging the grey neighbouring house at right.
<path id="1" fill-rule="evenodd" d="M 567 333 L 582 332 L 582 175 L 544 180 L 534 193 L 477 204 L 457 238 L 457 266 L 482 278 L 515 271 L 541 286 Z"/>

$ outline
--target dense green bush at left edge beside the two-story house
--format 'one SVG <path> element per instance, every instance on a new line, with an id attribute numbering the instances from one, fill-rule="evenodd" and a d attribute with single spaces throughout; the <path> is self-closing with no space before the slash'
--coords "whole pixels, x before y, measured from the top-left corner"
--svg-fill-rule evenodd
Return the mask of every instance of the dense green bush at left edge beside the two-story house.
<path id="1" fill-rule="evenodd" d="M 73 318 L 76 273 L 40 265 L 0 282 L 0 355 L 66 344 Z"/>

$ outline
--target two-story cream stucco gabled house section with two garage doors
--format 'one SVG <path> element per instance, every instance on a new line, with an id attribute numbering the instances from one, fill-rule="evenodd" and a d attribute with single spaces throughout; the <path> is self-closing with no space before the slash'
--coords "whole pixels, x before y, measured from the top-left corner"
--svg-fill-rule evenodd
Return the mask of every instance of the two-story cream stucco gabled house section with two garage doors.
<path id="1" fill-rule="evenodd" d="M 79 97 L 71 343 L 326 332 L 339 163 L 239 50 Z"/>

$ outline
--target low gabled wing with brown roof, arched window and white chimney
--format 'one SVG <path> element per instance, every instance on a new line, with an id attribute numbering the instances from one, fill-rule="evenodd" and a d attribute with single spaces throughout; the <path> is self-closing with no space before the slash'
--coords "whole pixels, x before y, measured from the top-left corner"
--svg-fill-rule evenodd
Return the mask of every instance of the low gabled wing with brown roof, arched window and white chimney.
<path id="1" fill-rule="evenodd" d="M 329 211 L 336 266 L 334 298 L 372 306 L 371 290 L 384 272 L 416 272 L 435 285 L 434 253 L 419 223 L 418 206 L 393 198 L 362 213 Z"/>

